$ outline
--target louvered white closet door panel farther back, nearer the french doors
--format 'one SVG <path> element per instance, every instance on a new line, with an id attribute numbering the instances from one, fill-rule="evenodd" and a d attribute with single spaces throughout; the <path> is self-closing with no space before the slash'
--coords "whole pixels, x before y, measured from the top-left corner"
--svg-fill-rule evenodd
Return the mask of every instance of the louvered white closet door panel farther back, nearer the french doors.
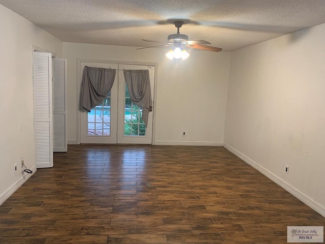
<path id="1" fill-rule="evenodd" d="M 67 151 L 67 59 L 52 58 L 53 151 Z"/>

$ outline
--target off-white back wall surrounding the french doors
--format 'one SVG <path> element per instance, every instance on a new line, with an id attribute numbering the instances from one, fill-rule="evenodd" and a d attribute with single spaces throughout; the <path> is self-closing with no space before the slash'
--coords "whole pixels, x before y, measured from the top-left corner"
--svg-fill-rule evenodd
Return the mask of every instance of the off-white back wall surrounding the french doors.
<path id="1" fill-rule="evenodd" d="M 68 58 L 68 142 L 77 142 L 77 58 L 157 64 L 156 144 L 222 145 L 230 53 L 190 50 L 176 64 L 168 49 L 63 43 Z M 187 135 L 181 135 L 186 130 Z"/>

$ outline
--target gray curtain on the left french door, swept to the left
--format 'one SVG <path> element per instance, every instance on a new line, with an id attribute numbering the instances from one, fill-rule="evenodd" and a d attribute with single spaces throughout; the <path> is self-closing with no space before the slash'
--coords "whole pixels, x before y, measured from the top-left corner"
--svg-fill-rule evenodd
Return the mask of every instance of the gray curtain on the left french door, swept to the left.
<path id="1" fill-rule="evenodd" d="M 111 90 L 116 70 L 85 66 L 80 89 L 80 110 L 100 105 Z"/>

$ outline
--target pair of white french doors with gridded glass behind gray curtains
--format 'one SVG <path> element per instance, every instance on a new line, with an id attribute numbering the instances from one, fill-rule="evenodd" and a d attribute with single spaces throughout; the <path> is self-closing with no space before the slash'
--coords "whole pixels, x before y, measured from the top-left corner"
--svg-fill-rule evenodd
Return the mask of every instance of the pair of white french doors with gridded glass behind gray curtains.
<path id="1" fill-rule="evenodd" d="M 122 65 L 80 62 L 80 77 L 85 66 L 116 69 L 112 89 L 103 103 L 82 112 L 80 118 L 81 143 L 151 144 L 153 113 L 149 113 L 148 124 L 142 120 L 142 108 L 129 98 L 123 70 L 149 70 L 151 97 L 154 90 L 154 66 Z"/>

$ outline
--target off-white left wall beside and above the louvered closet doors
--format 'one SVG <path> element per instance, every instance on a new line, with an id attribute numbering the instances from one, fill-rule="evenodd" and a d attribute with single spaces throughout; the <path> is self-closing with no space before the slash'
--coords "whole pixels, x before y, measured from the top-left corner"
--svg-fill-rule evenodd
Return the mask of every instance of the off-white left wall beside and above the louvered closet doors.
<path id="1" fill-rule="evenodd" d="M 14 164 L 34 168 L 32 45 L 62 56 L 62 42 L 0 5 L 0 204 L 22 184 Z M 18 167 L 20 170 L 20 167 Z"/>

